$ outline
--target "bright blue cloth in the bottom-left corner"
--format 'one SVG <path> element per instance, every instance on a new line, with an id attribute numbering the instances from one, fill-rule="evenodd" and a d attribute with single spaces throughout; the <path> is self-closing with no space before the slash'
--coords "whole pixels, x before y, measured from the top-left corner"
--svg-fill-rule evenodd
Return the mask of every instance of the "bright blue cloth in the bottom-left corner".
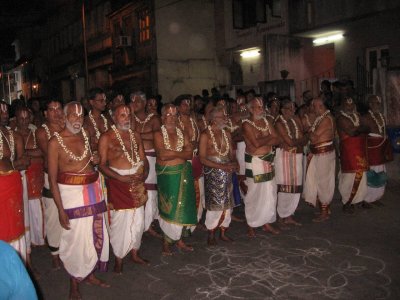
<path id="1" fill-rule="evenodd" d="M 32 280 L 21 258 L 9 244 L 0 241 L 0 300 L 36 300 Z"/>

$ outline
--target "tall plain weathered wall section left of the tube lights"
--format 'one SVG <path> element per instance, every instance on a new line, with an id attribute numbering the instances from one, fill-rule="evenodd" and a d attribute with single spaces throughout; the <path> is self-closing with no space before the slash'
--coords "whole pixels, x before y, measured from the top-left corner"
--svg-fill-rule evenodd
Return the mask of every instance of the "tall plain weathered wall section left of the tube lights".
<path id="1" fill-rule="evenodd" d="M 164 102 L 227 83 L 215 51 L 214 1 L 156 0 L 155 20 L 158 92 Z"/>

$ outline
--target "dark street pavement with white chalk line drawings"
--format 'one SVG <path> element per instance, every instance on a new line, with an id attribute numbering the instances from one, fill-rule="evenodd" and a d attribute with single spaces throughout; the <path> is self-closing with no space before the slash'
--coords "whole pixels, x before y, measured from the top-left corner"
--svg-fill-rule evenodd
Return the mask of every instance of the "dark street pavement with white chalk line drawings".
<path id="1" fill-rule="evenodd" d="M 195 231 L 192 253 L 175 250 L 162 257 L 161 242 L 145 235 L 141 248 L 150 266 L 127 257 L 123 275 L 99 277 L 104 289 L 81 284 L 84 299 L 400 299 L 400 182 L 390 182 L 384 207 L 345 215 L 336 197 L 325 223 L 302 202 L 296 218 L 302 227 L 278 236 L 257 231 L 246 236 L 244 223 L 232 222 L 232 244 L 207 247 L 207 234 Z M 239 212 L 243 214 L 243 212 Z M 111 250 L 111 248 L 110 248 Z M 52 271 L 46 247 L 33 249 L 43 299 L 67 299 L 68 277 Z"/>

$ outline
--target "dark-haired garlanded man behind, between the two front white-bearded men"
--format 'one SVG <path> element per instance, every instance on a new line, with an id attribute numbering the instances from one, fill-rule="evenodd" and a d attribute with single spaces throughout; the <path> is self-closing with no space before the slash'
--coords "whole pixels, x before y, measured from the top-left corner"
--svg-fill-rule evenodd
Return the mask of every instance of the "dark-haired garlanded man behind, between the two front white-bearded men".
<path id="1" fill-rule="evenodd" d="M 109 122 L 102 112 L 106 109 L 106 94 L 100 88 L 89 91 L 90 111 L 85 117 L 84 128 L 90 137 L 92 151 L 97 151 L 100 135 L 109 129 Z"/>

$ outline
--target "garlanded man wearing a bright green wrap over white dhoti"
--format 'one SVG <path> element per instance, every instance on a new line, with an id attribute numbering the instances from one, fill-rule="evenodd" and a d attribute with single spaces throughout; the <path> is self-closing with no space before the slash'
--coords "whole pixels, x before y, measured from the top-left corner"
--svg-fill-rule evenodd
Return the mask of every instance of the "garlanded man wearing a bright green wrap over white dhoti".
<path id="1" fill-rule="evenodd" d="M 188 136 L 177 127 L 177 110 L 167 104 L 161 110 L 163 125 L 154 132 L 159 223 L 164 233 L 162 254 L 171 255 L 170 245 L 193 251 L 182 235 L 197 223 L 196 195 L 192 176 L 193 149 Z"/>

